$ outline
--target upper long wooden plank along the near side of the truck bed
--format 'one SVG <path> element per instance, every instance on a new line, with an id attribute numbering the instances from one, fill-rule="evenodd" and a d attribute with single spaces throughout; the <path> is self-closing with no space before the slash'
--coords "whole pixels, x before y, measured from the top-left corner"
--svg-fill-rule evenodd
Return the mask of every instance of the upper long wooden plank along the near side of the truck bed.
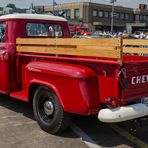
<path id="1" fill-rule="evenodd" d="M 18 45 L 95 45 L 105 47 L 120 46 L 120 39 L 82 39 L 82 38 L 18 38 Z"/>

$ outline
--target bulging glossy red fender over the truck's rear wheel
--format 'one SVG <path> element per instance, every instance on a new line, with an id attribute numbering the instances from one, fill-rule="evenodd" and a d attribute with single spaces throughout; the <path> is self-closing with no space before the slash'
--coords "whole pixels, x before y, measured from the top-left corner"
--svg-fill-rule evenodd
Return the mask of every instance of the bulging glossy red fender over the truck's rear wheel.
<path id="1" fill-rule="evenodd" d="M 65 111 L 78 114 L 98 112 L 97 75 L 91 68 L 71 63 L 33 61 L 25 71 L 28 88 L 34 80 L 54 86 Z"/>

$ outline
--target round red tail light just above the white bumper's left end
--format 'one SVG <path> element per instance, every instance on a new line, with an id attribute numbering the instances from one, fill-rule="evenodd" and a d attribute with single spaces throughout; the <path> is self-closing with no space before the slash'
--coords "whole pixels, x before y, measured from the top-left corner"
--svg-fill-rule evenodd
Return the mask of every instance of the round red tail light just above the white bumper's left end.
<path id="1" fill-rule="evenodd" d="M 109 97 L 106 99 L 106 105 L 109 108 L 115 108 L 119 106 L 119 102 L 116 98 Z"/>

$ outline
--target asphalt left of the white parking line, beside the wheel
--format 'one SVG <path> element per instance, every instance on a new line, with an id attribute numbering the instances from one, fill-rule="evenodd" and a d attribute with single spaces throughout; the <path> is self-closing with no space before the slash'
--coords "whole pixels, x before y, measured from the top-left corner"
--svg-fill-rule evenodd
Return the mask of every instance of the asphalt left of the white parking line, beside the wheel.
<path id="1" fill-rule="evenodd" d="M 42 131 L 32 105 L 0 96 L 0 148 L 87 148 L 70 129 L 60 135 Z"/>

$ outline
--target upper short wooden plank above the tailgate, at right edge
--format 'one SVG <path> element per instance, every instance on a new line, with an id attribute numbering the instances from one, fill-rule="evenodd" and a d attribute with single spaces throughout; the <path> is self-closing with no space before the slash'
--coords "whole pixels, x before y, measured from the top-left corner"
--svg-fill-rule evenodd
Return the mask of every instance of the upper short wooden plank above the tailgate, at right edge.
<path id="1" fill-rule="evenodd" d="M 123 45 L 145 45 L 148 46 L 146 39 L 123 39 Z"/>

